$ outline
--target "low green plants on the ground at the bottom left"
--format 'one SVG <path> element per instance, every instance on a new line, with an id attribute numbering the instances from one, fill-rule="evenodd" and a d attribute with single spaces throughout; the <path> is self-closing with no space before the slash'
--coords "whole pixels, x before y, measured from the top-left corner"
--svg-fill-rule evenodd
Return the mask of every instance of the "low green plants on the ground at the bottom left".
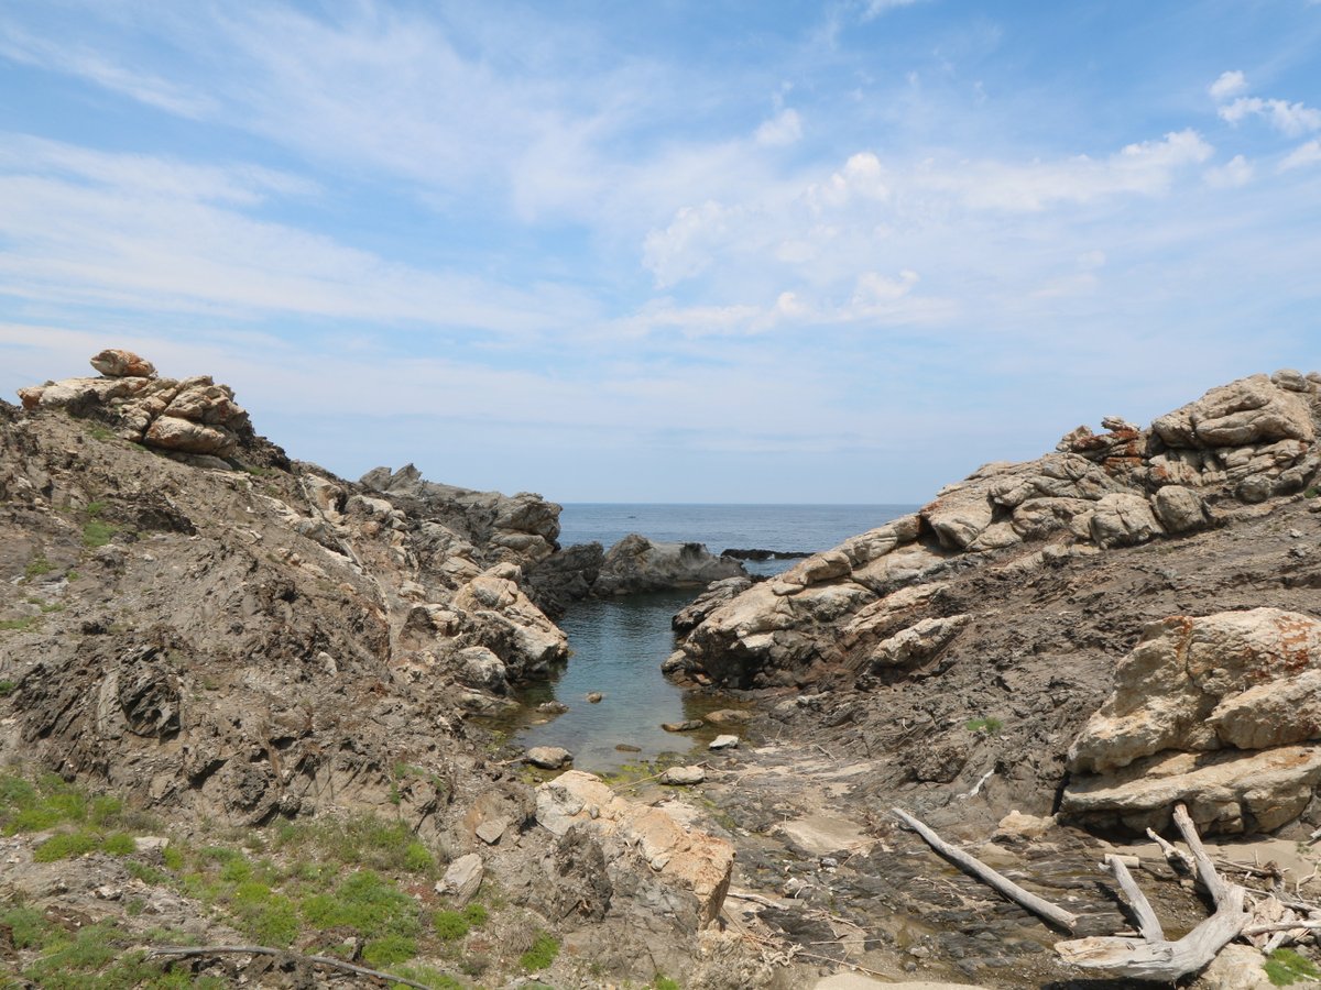
<path id="1" fill-rule="evenodd" d="M 559 953 L 544 931 L 522 954 L 487 931 L 497 915 L 523 931 L 535 924 L 505 906 L 498 891 L 483 898 L 487 903 L 445 903 L 432 890 L 440 873 L 435 854 L 403 822 L 378 816 L 211 829 L 205 841 L 173 837 L 164 849 L 147 843 L 155 851 L 139 854 L 136 837 L 164 838 L 160 821 L 55 775 L 11 772 L 0 774 L 0 832 L 49 833 L 36 836 L 36 862 L 114 857 L 131 878 L 199 902 L 252 944 L 357 958 L 431 987 L 469 986 L 465 977 L 487 972 L 540 972 Z M 58 915 L 20 896 L 0 902 L 0 927 L 13 931 L 22 978 L 41 987 L 225 986 L 147 958 L 144 944 L 177 936 L 135 928 L 145 920 L 144 903 L 136 895 L 118 908 L 123 917 L 67 931 Z"/>

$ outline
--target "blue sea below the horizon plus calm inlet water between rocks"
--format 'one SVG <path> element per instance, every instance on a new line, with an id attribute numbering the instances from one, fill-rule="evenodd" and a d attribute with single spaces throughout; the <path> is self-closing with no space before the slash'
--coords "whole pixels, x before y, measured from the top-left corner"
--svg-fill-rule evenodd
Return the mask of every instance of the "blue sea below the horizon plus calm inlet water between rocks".
<path id="1" fill-rule="evenodd" d="M 696 541 L 712 553 L 729 548 L 815 553 L 875 529 L 915 506 L 773 506 L 773 504 L 618 504 L 568 503 L 560 515 L 560 544 L 597 541 L 609 549 L 629 533 L 660 541 Z M 750 573 L 774 574 L 793 560 L 745 561 Z M 670 619 L 700 589 L 589 599 L 569 607 L 559 626 L 572 655 L 548 682 L 519 692 L 524 711 L 507 723 L 523 746 L 563 746 L 573 766 L 614 772 L 672 754 L 688 756 L 717 734 L 715 727 L 671 734 L 662 722 L 700 718 L 720 708 L 738 708 L 731 697 L 684 692 L 660 673 L 674 652 Z M 598 704 L 587 694 L 600 692 Z M 557 700 L 560 715 L 536 705 Z M 622 747 L 622 748 L 621 748 Z"/>

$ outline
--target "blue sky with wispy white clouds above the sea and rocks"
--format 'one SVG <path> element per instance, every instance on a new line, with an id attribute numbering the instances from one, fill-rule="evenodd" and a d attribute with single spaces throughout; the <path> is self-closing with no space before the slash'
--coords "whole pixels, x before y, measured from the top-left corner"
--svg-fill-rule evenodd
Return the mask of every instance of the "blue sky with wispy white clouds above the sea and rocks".
<path id="1" fill-rule="evenodd" d="M 1321 368 L 1321 3 L 0 0 L 0 395 L 349 478 L 919 503 Z"/>

